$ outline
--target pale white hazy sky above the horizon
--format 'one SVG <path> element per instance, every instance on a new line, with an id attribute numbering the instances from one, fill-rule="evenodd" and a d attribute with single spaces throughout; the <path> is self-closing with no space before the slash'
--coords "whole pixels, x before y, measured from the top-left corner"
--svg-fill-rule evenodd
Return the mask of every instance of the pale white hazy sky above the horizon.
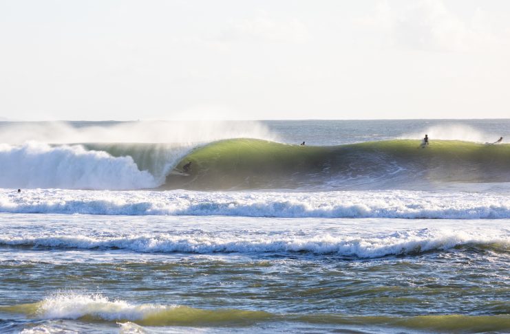
<path id="1" fill-rule="evenodd" d="M 506 0 L 0 0 L 0 118 L 510 118 Z"/>

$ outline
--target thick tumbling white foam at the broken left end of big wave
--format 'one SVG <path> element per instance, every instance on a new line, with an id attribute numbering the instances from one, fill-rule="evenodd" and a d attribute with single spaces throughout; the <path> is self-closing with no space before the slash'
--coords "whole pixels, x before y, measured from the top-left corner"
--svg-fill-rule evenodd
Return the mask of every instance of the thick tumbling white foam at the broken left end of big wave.
<path id="1" fill-rule="evenodd" d="M 6 188 L 140 189 L 158 186 L 131 157 L 81 145 L 0 144 L 0 186 Z"/>

